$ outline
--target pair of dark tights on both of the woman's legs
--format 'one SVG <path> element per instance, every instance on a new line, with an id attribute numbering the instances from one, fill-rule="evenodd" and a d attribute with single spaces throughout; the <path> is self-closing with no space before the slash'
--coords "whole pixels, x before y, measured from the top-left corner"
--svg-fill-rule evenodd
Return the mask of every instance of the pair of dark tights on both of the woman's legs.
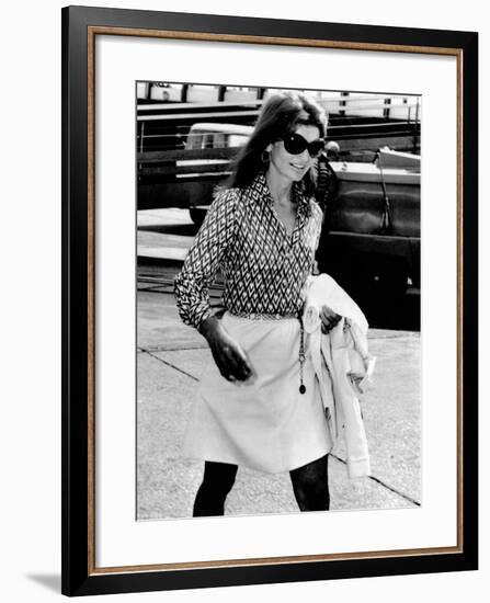
<path id="1" fill-rule="evenodd" d="M 233 487 L 237 470 L 237 465 L 206 460 L 203 482 L 194 501 L 194 517 L 225 514 L 225 500 Z M 289 475 L 301 511 L 328 511 L 328 455 L 293 469 Z"/>

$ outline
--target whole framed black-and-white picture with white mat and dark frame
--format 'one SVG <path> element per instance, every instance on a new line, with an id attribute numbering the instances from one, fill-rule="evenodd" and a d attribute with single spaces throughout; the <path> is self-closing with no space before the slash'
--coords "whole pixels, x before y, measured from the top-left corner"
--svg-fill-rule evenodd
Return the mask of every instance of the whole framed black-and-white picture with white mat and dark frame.
<path id="1" fill-rule="evenodd" d="M 477 90 L 472 32 L 62 10 L 64 594 L 477 569 Z"/>

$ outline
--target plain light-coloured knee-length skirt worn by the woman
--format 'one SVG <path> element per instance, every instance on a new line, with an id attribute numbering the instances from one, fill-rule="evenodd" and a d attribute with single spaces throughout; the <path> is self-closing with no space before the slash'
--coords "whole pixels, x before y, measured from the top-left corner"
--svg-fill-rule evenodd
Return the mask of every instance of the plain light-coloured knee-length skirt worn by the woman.
<path id="1" fill-rule="evenodd" d="M 329 453 L 332 442 L 307 346 L 306 392 L 299 394 L 299 321 L 229 312 L 221 320 L 249 355 L 254 376 L 230 383 L 210 360 L 191 411 L 184 456 L 275 474 Z"/>

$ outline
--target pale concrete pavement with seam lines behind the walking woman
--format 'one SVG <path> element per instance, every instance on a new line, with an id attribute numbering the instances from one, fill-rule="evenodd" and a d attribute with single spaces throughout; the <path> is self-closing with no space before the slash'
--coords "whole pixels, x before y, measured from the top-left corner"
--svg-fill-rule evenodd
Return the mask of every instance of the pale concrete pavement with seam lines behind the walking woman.
<path id="1" fill-rule="evenodd" d="M 171 278 L 195 229 L 179 212 L 171 216 L 171 232 L 158 213 L 139 214 L 137 515 L 189 517 L 203 463 L 184 458 L 181 444 L 200 377 L 213 360 L 204 338 L 180 320 Z M 331 511 L 406 509 L 422 502 L 420 332 L 371 329 L 368 342 L 377 356 L 362 399 L 372 475 L 349 479 L 345 447 L 339 442 L 329 458 Z M 239 469 L 227 514 L 296 512 L 287 473 Z"/>

